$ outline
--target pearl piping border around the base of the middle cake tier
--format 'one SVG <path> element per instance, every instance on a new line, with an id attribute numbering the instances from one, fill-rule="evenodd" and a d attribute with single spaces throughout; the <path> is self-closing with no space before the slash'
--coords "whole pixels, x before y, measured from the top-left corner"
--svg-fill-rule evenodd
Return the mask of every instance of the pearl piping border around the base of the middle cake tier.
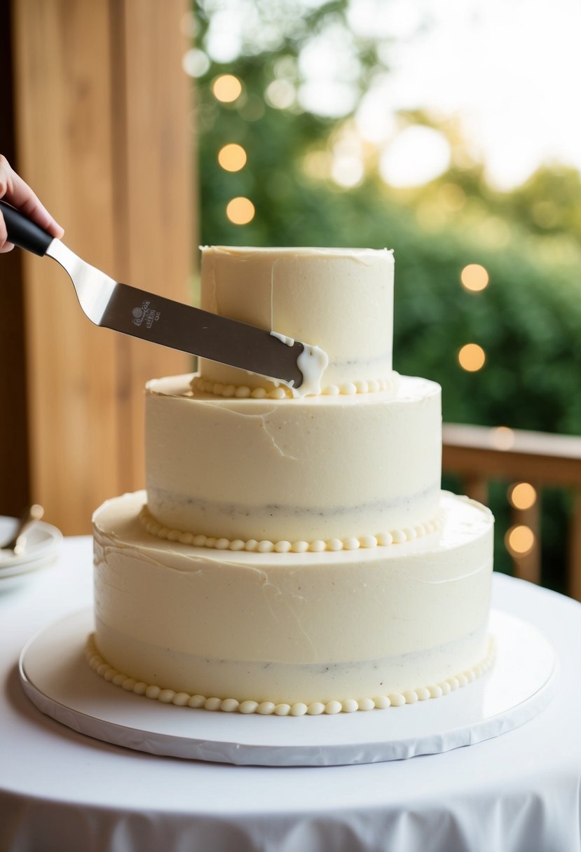
<path id="1" fill-rule="evenodd" d="M 156 521 L 147 509 L 147 505 L 141 509 L 139 521 L 147 533 L 168 541 L 189 544 L 193 547 L 207 547 L 213 550 L 247 550 L 255 553 L 307 553 L 307 551 L 323 553 L 329 550 L 360 550 L 360 548 L 369 550 L 376 547 L 388 547 L 390 544 L 404 544 L 406 541 L 413 541 L 415 538 L 437 533 L 442 526 L 441 517 L 437 516 L 431 521 L 416 524 L 413 527 L 392 530 L 391 533 L 363 535 L 359 538 L 329 538 L 327 541 L 317 538 L 314 541 L 291 542 L 285 540 L 270 541 L 266 538 L 262 541 L 258 541 L 256 538 L 249 538 L 244 541 L 242 538 L 218 538 L 206 536 L 202 533 L 184 533 L 181 530 L 164 527 L 163 524 Z"/>

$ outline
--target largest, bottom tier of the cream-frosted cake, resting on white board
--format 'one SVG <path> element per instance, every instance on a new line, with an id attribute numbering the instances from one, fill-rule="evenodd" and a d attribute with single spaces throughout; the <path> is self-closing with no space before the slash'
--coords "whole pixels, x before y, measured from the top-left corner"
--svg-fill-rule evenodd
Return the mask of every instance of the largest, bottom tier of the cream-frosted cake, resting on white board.
<path id="1" fill-rule="evenodd" d="M 491 664 L 492 514 L 442 492 L 437 532 L 260 553 L 147 533 L 145 492 L 97 509 L 91 665 L 149 698 L 337 712 L 435 698 Z M 413 531 L 410 531 L 413 536 Z"/>

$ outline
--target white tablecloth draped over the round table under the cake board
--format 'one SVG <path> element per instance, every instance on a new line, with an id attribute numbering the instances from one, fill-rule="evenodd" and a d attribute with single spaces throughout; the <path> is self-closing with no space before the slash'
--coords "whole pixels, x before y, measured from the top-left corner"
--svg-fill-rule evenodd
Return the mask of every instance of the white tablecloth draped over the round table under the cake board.
<path id="1" fill-rule="evenodd" d="M 0 585 L 0 850 L 581 852 L 581 605 L 503 576 L 494 606 L 537 625 L 557 696 L 508 734 L 392 763 L 267 769 L 153 757 L 43 716 L 20 688 L 32 634 L 91 600 L 89 538 Z M 0 584 L 2 580 L 0 580 Z"/>

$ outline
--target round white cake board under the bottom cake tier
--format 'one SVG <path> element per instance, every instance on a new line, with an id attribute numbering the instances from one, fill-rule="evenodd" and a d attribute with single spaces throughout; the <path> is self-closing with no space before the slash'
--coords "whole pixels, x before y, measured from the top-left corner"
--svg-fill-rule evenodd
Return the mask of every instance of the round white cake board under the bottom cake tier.
<path id="1" fill-rule="evenodd" d="M 91 610 L 41 630 L 20 655 L 38 709 L 117 746 L 170 757 L 260 766 L 377 763 L 469 746 L 518 728 L 555 692 L 555 654 L 532 625 L 493 611 L 497 660 L 479 681 L 440 699 L 337 716 L 244 716 L 164 705 L 125 692 L 83 656 Z"/>

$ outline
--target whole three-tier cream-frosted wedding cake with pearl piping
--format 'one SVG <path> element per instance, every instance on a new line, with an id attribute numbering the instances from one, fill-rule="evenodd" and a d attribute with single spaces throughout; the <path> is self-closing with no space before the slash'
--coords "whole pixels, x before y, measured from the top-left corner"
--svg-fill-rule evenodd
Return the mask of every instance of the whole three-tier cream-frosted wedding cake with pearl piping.
<path id="1" fill-rule="evenodd" d="M 391 252 L 206 248 L 202 308 L 324 349 L 321 393 L 202 361 L 146 394 L 147 492 L 95 513 L 91 665 L 291 714 L 439 697 L 491 664 L 492 515 L 440 492 L 440 387 L 392 370 Z"/>

